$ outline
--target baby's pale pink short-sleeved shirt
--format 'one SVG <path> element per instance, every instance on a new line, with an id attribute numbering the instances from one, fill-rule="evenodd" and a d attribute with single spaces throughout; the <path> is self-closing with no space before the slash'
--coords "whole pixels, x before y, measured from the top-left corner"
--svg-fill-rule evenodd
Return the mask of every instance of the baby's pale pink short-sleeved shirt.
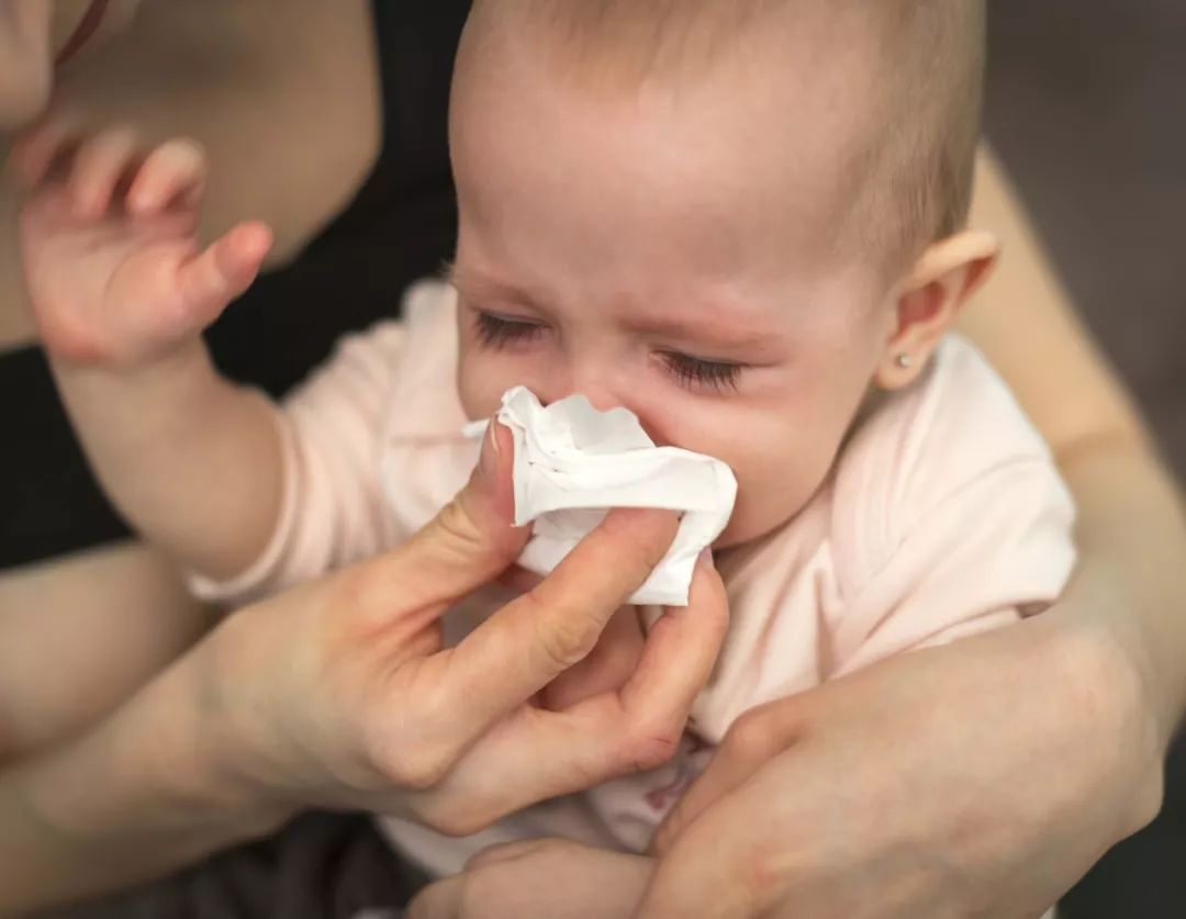
<path id="1" fill-rule="evenodd" d="M 476 447 L 460 436 L 455 302 L 425 285 L 406 313 L 345 342 L 288 402 L 275 537 L 235 582 L 198 585 L 205 596 L 243 602 L 390 548 L 463 486 Z M 988 364 L 952 337 L 917 385 L 861 425 L 795 521 L 731 556 L 729 634 L 672 764 L 468 840 L 400 821 L 385 828 L 436 874 L 530 836 L 642 850 L 747 709 L 1048 605 L 1075 563 L 1072 518 L 1041 439 Z M 447 618 L 449 639 L 505 599 L 463 604 Z"/>

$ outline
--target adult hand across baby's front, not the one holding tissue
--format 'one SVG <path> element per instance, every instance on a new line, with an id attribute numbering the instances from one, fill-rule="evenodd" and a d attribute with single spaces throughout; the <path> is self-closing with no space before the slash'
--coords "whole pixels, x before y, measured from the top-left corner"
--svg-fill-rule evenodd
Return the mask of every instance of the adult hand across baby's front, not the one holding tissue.
<path id="1" fill-rule="evenodd" d="M 1130 664 L 1053 610 L 742 719 L 642 919 L 1034 919 L 1160 802 Z"/>

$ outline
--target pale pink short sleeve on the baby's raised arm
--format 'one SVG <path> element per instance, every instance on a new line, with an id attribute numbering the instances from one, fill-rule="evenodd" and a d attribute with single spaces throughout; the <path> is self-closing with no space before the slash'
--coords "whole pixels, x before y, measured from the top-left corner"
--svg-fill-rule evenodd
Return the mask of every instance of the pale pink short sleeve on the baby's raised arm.
<path id="1" fill-rule="evenodd" d="M 202 599 L 241 605 L 385 548 L 380 449 L 404 330 L 382 323 L 343 339 L 283 404 L 282 502 L 262 555 L 241 575 L 191 577 Z"/>

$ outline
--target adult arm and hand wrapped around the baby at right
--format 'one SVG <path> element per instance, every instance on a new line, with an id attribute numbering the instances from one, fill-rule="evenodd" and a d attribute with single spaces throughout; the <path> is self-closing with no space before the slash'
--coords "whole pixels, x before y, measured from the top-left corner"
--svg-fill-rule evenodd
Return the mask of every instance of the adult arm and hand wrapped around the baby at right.
<path id="1" fill-rule="evenodd" d="M 964 328 L 1054 451 L 1076 574 L 1041 615 L 742 719 L 661 832 L 642 919 L 1039 915 L 1160 806 L 1180 494 L 987 158 L 973 219 L 1009 257 Z"/>

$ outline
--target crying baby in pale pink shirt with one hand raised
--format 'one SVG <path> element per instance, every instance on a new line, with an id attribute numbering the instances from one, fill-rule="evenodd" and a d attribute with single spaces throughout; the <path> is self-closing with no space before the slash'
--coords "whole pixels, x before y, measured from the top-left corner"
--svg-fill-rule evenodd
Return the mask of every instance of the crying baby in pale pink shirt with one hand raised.
<path id="1" fill-rule="evenodd" d="M 18 152 L 32 299 L 75 423 L 208 598 L 414 534 L 470 472 L 464 425 L 517 385 L 625 406 L 657 443 L 733 468 L 715 545 L 732 624 L 672 762 L 467 840 L 388 822 L 429 872 L 534 836 L 642 851 L 747 709 L 1061 591 L 1067 492 L 951 334 L 996 255 L 964 229 L 983 7 L 479 0 L 453 91 L 449 283 L 282 408 L 202 344 L 269 238 L 249 224 L 199 251 L 192 145 L 141 157 L 115 132 L 63 158 L 46 129 Z M 484 602 L 447 618 L 454 640 Z"/>

